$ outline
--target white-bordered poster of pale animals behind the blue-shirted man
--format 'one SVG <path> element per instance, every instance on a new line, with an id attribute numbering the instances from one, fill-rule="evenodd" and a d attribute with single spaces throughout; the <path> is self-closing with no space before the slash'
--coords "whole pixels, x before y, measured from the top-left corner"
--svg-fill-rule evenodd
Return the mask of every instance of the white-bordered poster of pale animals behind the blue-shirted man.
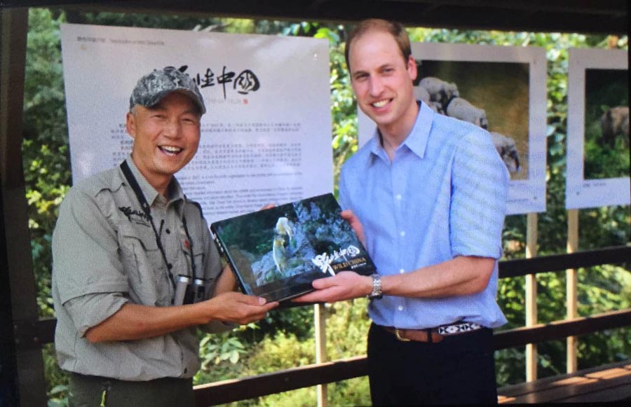
<path id="1" fill-rule="evenodd" d="M 412 43 L 412 55 L 416 99 L 491 132 L 510 172 L 507 214 L 545 212 L 545 49 Z M 359 111 L 358 127 L 362 145 L 374 123 Z"/>

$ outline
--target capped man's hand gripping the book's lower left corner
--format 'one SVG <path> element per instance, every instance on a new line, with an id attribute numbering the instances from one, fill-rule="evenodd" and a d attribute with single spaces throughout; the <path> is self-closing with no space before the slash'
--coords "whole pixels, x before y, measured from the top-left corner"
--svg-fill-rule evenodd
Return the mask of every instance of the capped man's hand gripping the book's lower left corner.
<path id="1" fill-rule="evenodd" d="M 264 318 L 267 312 L 278 306 L 278 302 L 266 303 L 265 298 L 262 297 L 229 291 L 198 305 L 204 307 L 210 321 L 249 324 Z"/>

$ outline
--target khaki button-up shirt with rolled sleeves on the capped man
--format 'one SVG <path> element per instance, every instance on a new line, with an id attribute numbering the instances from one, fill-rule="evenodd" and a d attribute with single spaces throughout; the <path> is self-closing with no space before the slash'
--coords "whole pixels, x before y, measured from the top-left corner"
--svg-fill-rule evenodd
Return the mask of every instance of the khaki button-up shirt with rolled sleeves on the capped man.
<path id="1" fill-rule="evenodd" d="M 201 209 L 186 200 L 176 179 L 167 200 L 142 177 L 131 158 L 127 163 L 151 206 L 156 229 L 161 230 L 174 279 L 179 274 L 191 276 L 194 261 L 196 273 L 203 273 L 214 286 L 222 267 Z M 193 243 L 192 260 L 182 215 Z M 121 169 L 101 172 L 71 188 L 53 232 L 55 348 L 61 368 L 121 380 L 192 377 L 199 368 L 195 328 L 107 343 L 90 343 L 85 337 L 90 327 L 127 302 L 168 307 L 173 296 L 151 223 Z M 215 325 L 210 330 L 226 329 L 221 322 Z"/>

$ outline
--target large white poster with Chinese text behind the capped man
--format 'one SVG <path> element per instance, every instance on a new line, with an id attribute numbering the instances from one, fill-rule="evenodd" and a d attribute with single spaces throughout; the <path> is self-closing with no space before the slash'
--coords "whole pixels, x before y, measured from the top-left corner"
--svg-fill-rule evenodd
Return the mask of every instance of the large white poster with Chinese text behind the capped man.
<path id="1" fill-rule="evenodd" d="M 332 191 L 326 39 L 70 24 L 61 34 L 75 182 L 130 153 L 137 80 L 185 66 L 208 112 L 177 179 L 209 222 Z"/>

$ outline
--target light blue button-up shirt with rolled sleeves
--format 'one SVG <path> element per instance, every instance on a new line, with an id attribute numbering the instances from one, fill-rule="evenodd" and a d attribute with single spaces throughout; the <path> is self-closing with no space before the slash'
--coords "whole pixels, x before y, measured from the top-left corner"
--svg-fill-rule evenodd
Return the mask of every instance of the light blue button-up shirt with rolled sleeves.
<path id="1" fill-rule="evenodd" d="M 351 157 L 340 204 L 364 226 L 380 275 L 408 273 L 455 256 L 500 258 L 508 171 L 488 132 L 421 104 L 392 162 L 379 132 Z M 422 272 L 421 272 L 422 273 Z M 446 298 L 384 296 L 369 305 L 379 325 L 424 329 L 460 320 L 506 323 L 496 303 L 497 261 L 484 291 Z"/>

